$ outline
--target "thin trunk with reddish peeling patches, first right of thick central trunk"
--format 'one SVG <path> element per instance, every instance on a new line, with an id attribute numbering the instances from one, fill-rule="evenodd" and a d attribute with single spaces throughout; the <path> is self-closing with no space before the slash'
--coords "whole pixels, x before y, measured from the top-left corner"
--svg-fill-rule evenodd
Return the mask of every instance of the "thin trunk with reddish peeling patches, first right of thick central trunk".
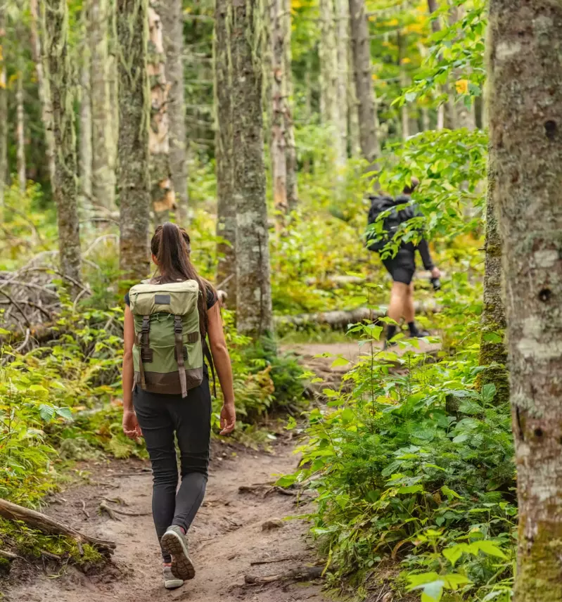
<path id="1" fill-rule="evenodd" d="M 287 108 L 287 84 L 285 78 L 285 31 L 283 28 L 283 0 L 269 1 L 269 39 L 271 41 L 272 74 L 271 90 L 271 152 L 273 166 L 273 201 L 276 212 L 281 214 L 278 224 L 283 225 L 287 203 L 287 138 L 285 113 Z M 279 217 L 279 215 L 278 215 Z"/>

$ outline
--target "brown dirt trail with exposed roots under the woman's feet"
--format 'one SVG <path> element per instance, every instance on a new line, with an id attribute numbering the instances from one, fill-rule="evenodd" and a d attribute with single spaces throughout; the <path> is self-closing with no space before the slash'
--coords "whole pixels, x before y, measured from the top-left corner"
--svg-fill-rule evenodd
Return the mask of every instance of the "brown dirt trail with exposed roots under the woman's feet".
<path id="1" fill-rule="evenodd" d="M 423 345 L 432 351 L 435 345 Z M 436 347 L 438 348 L 438 347 Z M 357 343 L 294 345 L 307 368 L 337 386 L 343 373 L 359 357 Z M 331 369 L 331 358 L 345 357 L 349 366 Z M 190 530 L 190 551 L 196 577 L 184 587 L 167 592 L 162 586 L 158 544 L 151 517 L 151 472 L 140 460 L 81 463 L 89 473 L 86 485 L 70 486 L 50 499 L 46 513 L 87 534 L 117 543 L 115 554 L 93 574 L 60 568 L 48 561 L 41 568 L 14 561 L 10 577 L 0 582 L 5 600 L 15 602 L 294 602 L 326 601 L 318 583 L 283 579 L 246 585 L 245 576 L 279 575 L 314 566 L 314 548 L 307 540 L 308 524 L 291 516 L 307 513 L 309 497 L 297 498 L 272 490 L 276 475 L 298 465 L 292 433 L 279 435 L 272 451 L 255 452 L 213 443 L 207 495 Z M 82 473 L 84 474 L 84 473 Z M 255 487 L 252 487 L 255 485 Z M 242 490 L 240 487 L 250 487 Z M 112 520 L 99 513 L 104 499 L 120 500 L 116 508 L 137 514 Z M 280 519 L 280 520 L 276 520 Z M 286 519 L 286 520 L 283 520 Z M 276 523 L 267 528 L 266 523 Z M 282 525 L 282 526 L 278 526 Z M 253 563 L 260 563 L 253 565 Z"/>

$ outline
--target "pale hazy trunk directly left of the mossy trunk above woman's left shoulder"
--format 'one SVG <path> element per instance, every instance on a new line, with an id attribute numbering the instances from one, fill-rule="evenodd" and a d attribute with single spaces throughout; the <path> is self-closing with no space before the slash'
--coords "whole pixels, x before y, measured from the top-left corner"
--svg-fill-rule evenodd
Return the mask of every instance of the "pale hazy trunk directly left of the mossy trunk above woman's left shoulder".
<path id="1" fill-rule="evenodd" d="M 109 87 L 108 0 L 87 0 L 91 53 L 92 197 L 96 208 L 115 208 L 115 175 L 110 161 L 111 112 Z"/>

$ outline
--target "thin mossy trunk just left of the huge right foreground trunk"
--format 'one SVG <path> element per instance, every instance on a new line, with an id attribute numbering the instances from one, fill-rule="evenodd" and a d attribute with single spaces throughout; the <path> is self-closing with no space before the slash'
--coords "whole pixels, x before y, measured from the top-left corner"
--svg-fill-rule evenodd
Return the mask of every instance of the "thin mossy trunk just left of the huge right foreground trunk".
<path id="1" fill-rule="evenodd" d="M 493 156 L 493 154 L 490 148 L 490 155 Z M 499 234 L 494 207 L 495 182 L 496 174 L 490 161 L 486 199 L 484 299 L 478 364 L 480 366 L 497 364 L 497 366 L 488 367 L 480 372 L 478 386 L 483 387 L 488 383 L 495 385 L 495 401 L 497 404 L 504 404 L 509 401 L 509 380 L 505 367 L 507 366 L 507 349 L 504 343 L 506 311 L 502 298 L 502 237 Z"/>

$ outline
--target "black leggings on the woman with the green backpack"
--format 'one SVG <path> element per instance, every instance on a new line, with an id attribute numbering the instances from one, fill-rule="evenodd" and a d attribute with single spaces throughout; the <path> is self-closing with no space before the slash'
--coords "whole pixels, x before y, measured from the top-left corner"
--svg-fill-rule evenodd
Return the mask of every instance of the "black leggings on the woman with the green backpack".
<path id="1" fill-rule="evenodd" d="M 152 513 L 160 541 L 170 525 L 179 525 L 187 532 L 205 497 L 211 433 L 209 381 L 204 378 L 185 399 L 148 393 L 137 385 L 133 403 L 151 457 Z M 181 459 L 179 489 L 174 433 Z M 171 561 L 170 556 L 162 556 L 165 562 Z"/>

